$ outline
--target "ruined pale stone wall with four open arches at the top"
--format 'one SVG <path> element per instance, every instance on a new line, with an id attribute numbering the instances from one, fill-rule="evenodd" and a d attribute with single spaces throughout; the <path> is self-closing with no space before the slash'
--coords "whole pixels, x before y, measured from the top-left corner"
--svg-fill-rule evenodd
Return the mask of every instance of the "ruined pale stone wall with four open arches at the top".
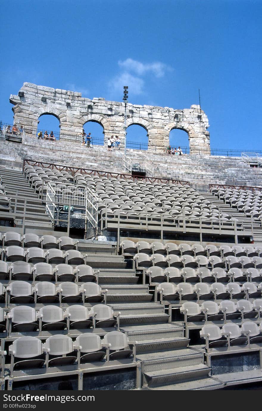
<path id="1" fill-rule="evenodd" d="M 106 101 L 104 98 L 88 99 L 81 93 L 24 83 L 18 95 L 10 96 L 14 104 L 14 123 L 23 125 L 26 134 L 35 136 L 39 117 L 52 114 L 60 121 L 60 136 L 76 137 L 87 121 L 98 122 L 103 127 L 105 143 L 108 136 L 124 138 L 124 103 Z M 200 106 L 175 110 L 169 107 L 127 104 L 126 126 L 137 124 L 147 130 L 148 148 L 163 151 L 169 144 L 172 129 L 188 134 L 191 153 L 210 154 L 207 115 Z"/>

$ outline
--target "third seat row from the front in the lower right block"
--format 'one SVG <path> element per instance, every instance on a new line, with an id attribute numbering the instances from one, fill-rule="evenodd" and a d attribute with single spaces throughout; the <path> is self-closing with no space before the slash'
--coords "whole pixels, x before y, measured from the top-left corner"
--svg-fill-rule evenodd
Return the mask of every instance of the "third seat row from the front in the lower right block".
<path id="1" fill-rule="evenodd" d="M 160 295 L 160 301 L 177 301 L 181 303 L 183 300 L 237 300 L 246 298 L 260 298 L 262 296 L 262 282 L 259 286 L 254 283 L 246 282 L 243 286 L 238 283 L 228 283 L 226 286 L 223 283 L 197 283 L 194 286 L 190 283 L 168 283 L 163 282 L 156 286 L 155 300 L 157 295 Z"/>

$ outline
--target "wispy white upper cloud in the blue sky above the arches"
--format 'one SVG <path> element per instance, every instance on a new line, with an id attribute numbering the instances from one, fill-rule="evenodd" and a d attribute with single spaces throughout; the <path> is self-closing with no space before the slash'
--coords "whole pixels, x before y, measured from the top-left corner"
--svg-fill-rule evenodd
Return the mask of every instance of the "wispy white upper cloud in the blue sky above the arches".
<path id="1" fill-rule="evenodd" d="M 138 76 L 143 76 L 147 72 L 151 72 L 155 77 L 163 77 L 166 71 L 171 71 L 172 68 L 160 61 L 144 64 L 140 61 L 127 58 L 126 60 L 118 61 L 118 65 L 128 72 L 134 72 Z"/>

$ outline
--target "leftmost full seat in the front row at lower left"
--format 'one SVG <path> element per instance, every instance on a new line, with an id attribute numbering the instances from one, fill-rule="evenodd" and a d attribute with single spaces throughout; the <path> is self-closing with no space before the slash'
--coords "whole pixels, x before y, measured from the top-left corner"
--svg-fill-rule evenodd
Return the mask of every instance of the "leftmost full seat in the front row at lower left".
<path id="1" fill-rule="evenodd" d="M 16 370 L 41 369 L 45 360 L 42 356 L 42 343 L 37 337 L 19 337 L 9 346 L 11 356 L 10 375 Z M 17 361 L 19 359 L 19 361 Z"/>

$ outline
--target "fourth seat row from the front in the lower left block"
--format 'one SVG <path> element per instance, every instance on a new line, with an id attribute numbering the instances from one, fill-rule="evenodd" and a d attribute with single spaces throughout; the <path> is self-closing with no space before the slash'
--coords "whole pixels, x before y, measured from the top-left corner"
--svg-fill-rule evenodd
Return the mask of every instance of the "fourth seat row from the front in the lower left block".
<path id="1" fill-rule="evenodd" d="M 97 282 L 99 270 L 85 264 L 73 268 L 69 264 L 26 263 L 15 261 L 8 265 L 0 261 L 1 280 Z"/>

